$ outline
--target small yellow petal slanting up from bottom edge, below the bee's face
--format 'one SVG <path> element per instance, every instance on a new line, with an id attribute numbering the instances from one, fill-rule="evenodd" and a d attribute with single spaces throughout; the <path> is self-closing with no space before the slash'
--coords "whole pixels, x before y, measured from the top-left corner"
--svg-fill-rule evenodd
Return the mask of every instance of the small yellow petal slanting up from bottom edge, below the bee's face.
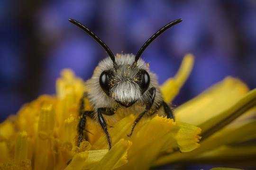
<path id="1" fill-rule="evenodd" d="M 130 141 L 121 139 L 91 170 L 112 170 L 127 163 L 123 159 L 125 158 L 126 160 L 127 151 L 130 146 Z"/>

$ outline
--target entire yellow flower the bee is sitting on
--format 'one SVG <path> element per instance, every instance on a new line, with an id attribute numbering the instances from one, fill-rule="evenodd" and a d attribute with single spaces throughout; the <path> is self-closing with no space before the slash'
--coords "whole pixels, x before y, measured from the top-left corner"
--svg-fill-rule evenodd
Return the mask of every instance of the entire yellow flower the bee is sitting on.
<path id="1" fill-rule="evenodd" d="M 165 102 L 179 93 L 192 65 L 189 54 L 176 76 L 161 86 Z M 56 95 L 40 96 L 2 122 L 0 169 L 145 170 L 166 163 L 256 154 L 256 145 L 247 144 L 256 138 L 256 123 L 250 119 L 256 112 L 256 90 L 248 92 L 238 79 L 228 77 L 178 107 L 175 122 L 160 115 L 143 119 L 131 137 L 127 134 L 133 114 L 108 122 L 111 150 L 101 127 L 91 119 L 86 125 L 89 141 L 76 146 L 78 104 L 84 90 L 82 79 L 65 69 L 56 82 Z M 91 110 L 85 102 L 86 110 Z"/>

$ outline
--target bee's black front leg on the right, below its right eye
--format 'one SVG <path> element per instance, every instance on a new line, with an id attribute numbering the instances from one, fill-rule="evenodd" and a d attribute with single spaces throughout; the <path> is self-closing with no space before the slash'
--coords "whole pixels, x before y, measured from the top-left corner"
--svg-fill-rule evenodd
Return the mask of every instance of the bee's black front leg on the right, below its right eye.
<path id="1" fill-rule="evenodd" d="M 146 109 L 142 113 L 140 113 L 138 115 L 138 117 L 135 119 L 135 121 L 133 122 L 131 132 L 127 135 L 128 137 L 130 137 L 132 135 L 133 130 L 134 130 L 135 126 L 137 125 L 137 123 L 145 115 L 145 113 L 150 110 L 151 106 L 153 105 L 153 103 L 155 101 L 155 87 L 152 87 L 148 91 L 149 91 L 149 96 L 150 96 L 150 102 L 146 104 Z"/>

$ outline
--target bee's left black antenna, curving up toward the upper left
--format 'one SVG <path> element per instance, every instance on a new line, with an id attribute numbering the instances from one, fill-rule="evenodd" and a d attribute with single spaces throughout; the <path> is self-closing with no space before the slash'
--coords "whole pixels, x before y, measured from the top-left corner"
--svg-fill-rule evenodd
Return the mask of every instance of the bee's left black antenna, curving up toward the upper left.
<path id="1" fill-rule="evenodd" d="M 87 34 L 89 34 L 94 40 L 96 40 L 105 49 L 105 51 L 109 54 L 110 59 L 113 61 L 114 68 L 117 68 L 115 56 L 114 56 L 113 52 L 110 50 L 110 48 L 105 44 L 105 42 L 103 42 L 96 34 L 94 34 L 89 28 L 82 25 L 80 22 L 78 22 L 74 19 L 69 19 L 69 22 L 78 26 L 83 31 L 85 31 Z"/>

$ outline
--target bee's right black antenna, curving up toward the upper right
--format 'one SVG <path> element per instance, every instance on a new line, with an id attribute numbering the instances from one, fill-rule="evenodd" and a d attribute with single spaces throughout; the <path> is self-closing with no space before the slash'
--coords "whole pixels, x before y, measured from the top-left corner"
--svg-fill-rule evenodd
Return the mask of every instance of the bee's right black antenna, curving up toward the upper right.
<path id="1" fill-rule="evenodd" d="M 168 28 L 178 24 L 182 22 L 182 19 L 176 19 L 172 22 L 170 22 L 169 24 L 166 24 L 165 26 L 163 26 L 160 30 L 158 30 L 155 34 L 153 34 L 144 44 L 143 46 L 139 49 L 139 51 L 137 52 L 133 65 L 135 66 L 137 64 L 138 59 L 140 58 L 142 52 L 146 49 L 146 47 L 153 42 L 160 34 L 164 33 L 165 30 L 167 30 Z"/>

